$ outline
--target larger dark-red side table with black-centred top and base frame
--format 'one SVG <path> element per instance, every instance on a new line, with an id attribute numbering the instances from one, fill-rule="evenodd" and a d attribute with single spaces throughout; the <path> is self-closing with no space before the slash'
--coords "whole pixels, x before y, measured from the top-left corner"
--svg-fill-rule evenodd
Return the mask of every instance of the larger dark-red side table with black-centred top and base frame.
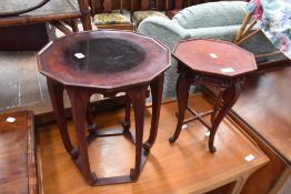
<path id="1" fill-rule="evenodd" d="M 82 53 L 84 58 L 78 59 L 76 53 Z M 38 64 L 39 71 L 48 76 L 48 88 L 63 144 L 87 182 L 90 185 L 103 185 L 138 180 L 158 132 L 163 72 L 170 67 L 169 50 L 151 38 L 132 32 L 83 32 L 67 35 L 49 44 L 38 54 Z M 143 143 L 148 86 L 151 88 L 154 103 L 150 135 Z M 62 98 L 64 89 L 71 101 L 77 147 L 71 143 L 66 125 Z M 133 106 L 134 169 L 131 169 L 130 175 L 97 177 L 90 170 L 88 156 L 88 143 L 92 141 L 90 136 L 89 142 L 86 137 L 86 124 L 92 126 L 88 104 L 93 93 L 114 96 L 119 92 L 126 92 Z M 124 123 L 129 123 L 128 111 L 129 105 Z M 129 125 L 126 126 L 124 135 L 131 136 Z M 98 133 L 99 130 L 94 130 Z M 98 136 L 94 135 L 94 130 L 90 129 L 91 136 Z"/>

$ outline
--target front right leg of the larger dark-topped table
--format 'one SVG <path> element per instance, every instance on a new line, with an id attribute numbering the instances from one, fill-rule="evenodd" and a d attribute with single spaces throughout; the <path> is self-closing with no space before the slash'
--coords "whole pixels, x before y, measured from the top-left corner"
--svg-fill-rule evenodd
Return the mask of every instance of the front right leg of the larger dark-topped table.
<path id="1" fill-rule="evenodd" d="M 143 136 L 143 122 L 144 122 L 144 109 L 146 109 L 146 92 L 147 88 L 134 88 L 127 91 L 134 112 L 136 120 L 136 165 L 130 171 L 130 177 L 138 180 L 142 169 L 142 136 Z"/>

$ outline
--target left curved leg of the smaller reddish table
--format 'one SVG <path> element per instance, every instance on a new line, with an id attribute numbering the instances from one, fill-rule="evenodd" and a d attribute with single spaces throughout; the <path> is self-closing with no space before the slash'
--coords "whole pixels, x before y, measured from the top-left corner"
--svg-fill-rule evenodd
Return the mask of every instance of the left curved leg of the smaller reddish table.
<path id="1" fill-rule="evenodd" d="M 188 98 L 189 98 L 189 90 L 191 85 L 191 76 L 184 73 L 181 73 L 178 78 L 175 91 L 177 91 L 177 98 L 178 98 L 178 106 L 179 106 L 179 113 L 178 113 L 178 124 L 174 131 L 173 136 L 169 139 L 170 143 L 175 142 L 175 140 L 179 137 L 183 121 L 184 121 L 184 112 L 188 104 Z"/>

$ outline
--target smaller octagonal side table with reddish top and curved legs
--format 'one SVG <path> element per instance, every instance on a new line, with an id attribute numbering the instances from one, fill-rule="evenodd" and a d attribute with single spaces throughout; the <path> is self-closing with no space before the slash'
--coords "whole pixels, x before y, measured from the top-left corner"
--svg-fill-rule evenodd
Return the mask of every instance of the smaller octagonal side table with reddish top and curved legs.
<path id="1" fill-rule="evenodd" d="M 225 52 L 228 51 L 228 52 Z M 178 60 L 177 98 L 179 103 L 178 124 L 170 143 L 179 137 L 184 121 L 189 89 L 192 83 L 218 88 L 219 94 L 213 111 L 197 113 L 190 110 L 194 118 L 190 121 L 202 121 L 202 116 L 211 114 L 210 124 L 202 121 L 209 129 L 209 150 L 214 153 L 214 135 L 222 119 L 237 102 L 243 75 L 257 70 L 253 54 L 224 41 L 197 39 L 180 41 L 173 51 Z"/>

